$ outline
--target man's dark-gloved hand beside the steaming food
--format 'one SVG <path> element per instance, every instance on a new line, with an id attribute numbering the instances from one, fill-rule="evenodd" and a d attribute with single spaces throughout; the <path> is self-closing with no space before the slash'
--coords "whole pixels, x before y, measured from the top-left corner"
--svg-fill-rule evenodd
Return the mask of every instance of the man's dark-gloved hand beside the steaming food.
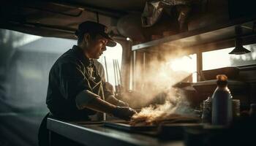
<path id="1" fill-rule="evenodd" d="M 132 118 L 132 115 L 135 115 L 136 113 L 137 112 L 133 110 L 131 107 L 117 106 L 115 110 L 113 110 L 113 116 L 124 120 L 130 120 Z"/>

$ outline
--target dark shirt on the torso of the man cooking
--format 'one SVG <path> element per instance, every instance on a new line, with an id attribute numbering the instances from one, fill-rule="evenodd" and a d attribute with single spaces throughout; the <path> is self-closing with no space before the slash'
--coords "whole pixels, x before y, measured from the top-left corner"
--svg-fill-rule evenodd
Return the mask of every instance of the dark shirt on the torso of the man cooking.
<path id="1" fill-rule="evenodd" d="M 46 99 L 48 109 L 56 118 L 89 120 L 88 115 L 96 112 L 89 109 L 78 110 L 75 103 L 78 93 L 84 90 L 104 98 L 102 79 L 94 62 L 83 55 L 80 47 L 74 45 L 50 69 Z"/>

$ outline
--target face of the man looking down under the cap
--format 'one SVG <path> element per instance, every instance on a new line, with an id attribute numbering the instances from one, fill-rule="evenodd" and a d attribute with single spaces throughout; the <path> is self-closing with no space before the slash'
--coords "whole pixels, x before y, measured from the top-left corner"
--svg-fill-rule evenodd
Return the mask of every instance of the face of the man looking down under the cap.
<path id="1" fill-rule="evenodd" d="M 103 51 L 107 50 L 108 39 L 97 35 L 95 39 L 89 39 L 88 53 L 90 58 L 98 59 Z"/>

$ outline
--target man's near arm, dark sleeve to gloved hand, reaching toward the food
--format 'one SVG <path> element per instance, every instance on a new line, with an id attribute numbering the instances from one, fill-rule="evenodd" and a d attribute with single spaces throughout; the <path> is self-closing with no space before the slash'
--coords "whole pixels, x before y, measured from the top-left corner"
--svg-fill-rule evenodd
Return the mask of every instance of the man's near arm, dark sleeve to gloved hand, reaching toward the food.
<path id="1" fill-rule="evenodd" d="M 97 94 L 91 92 L 88 80 L 80 70 L 78 64 L 74 64 L 73 62 L 61 64 L 60 73 L 61 94 L 65 99 L 75 100 L 75 106 L 78 107 L 78 110 L 89 108 L 124 119 L 128 119 L 135 114 L 135 110 L 131 110 L 128 107 L 117 107 L 108 103 L 108 101 L 103 101 Z"/>

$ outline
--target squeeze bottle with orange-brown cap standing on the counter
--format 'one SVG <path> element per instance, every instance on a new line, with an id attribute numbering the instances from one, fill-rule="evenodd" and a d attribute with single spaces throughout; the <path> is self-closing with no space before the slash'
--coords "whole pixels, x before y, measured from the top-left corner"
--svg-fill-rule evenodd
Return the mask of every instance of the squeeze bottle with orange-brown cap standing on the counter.
<path id="1" fill-rule="evenodd" d="M 217 75 L 217 88 L 212 95 L 212 125 L 228 126 L 233 119 L 232 95 L 227 88 L 227 76 Z"/>

